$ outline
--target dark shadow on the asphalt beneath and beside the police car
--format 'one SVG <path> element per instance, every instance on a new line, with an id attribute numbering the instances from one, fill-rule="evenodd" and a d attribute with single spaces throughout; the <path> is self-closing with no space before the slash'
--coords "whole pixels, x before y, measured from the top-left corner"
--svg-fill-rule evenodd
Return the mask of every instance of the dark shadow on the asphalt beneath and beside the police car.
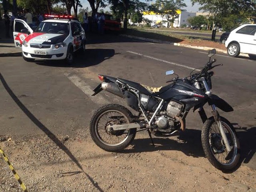
<path id="1" fill-rule="evenodd" d="M 68 65 L 64 60 L 36 60 L 38 65 L 52 66 L 52 67 L 74 67 L 83 68 L 100 64 L 104 60 L 111 59 L 115 54 L 114 49 L 86 49 L 85 53 L 75 52 L 74 62 Z"/>

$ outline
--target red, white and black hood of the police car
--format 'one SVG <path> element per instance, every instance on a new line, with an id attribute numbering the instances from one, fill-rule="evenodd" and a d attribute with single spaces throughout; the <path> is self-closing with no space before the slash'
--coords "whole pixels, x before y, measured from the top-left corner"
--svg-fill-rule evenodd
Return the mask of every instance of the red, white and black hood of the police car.
<path id="1" fill-rule="evenodd" d="M 25 38 L 28 43 L 34 44 L 56 44 L 67 38 L 68 34 L 38 33 L 34 32 Z"/>

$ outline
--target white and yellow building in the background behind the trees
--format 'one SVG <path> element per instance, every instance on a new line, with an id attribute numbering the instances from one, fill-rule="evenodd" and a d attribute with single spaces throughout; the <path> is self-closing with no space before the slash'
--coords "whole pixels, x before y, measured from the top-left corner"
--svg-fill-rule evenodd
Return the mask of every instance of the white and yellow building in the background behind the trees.
<path id="1" fill-rule="evenodd" d="M 188 18 L 196 16 L 196 13 L 186 12 L 186 11 L 177 11 L 179 17 L 174 20 L 172 24 L 173 27 L 181 27 L 182 25 L 186 25 Z M 143 18 L 147 18 L 152 21 L 151 26 L 157 24 L 163 24 L 163 26 L 167 27 L 167 22 L 165 17 L 162 17 L 160 14 L 156 14 L 155 12 L 143 12 Z"/>

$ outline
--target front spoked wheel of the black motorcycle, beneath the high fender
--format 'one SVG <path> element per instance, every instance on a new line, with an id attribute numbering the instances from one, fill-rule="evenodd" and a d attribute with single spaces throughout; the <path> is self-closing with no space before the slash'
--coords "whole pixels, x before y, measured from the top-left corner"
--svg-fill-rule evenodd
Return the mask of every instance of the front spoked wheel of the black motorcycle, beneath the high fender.
<path id="1" fill-rule="evenodd" d="M 206 120 L 202 128 L 202 146 L 206 157 L 214 167 L 220 170 L 231 170 L 238 164 L 240 144 L 232 124 L 223 117 L 220 117 L 220 120 L 231 151 L 227 151 L 218 124 L 213 117 Z"/>

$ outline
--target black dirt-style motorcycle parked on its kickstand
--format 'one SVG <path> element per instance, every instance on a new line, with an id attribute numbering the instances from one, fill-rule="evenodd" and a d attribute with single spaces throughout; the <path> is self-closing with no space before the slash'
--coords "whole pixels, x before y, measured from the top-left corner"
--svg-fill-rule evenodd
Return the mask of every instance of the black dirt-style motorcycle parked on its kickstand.
<path id="1" fill-rule="evenodd" d="M 94 89 L 94 94 L 106 90 L 124 98 L 131 108 L 138 111 L 134 116 L 130 110 L 118 104 L 108 104 L 99 108 L 90 122 L 90 134 L 100 148 L 109 152 L 118 152 L 126 148 L 136 135 L 137 128 L 148 130 L 156 136 L 171 136 L 180 129 L 185 130 L 185 119 L 191 108 L 198 109 L 204 126 L 202 128 L 202 146 L 211 164 L 220 170 L 230 170 L 239 161 L 239 140 L 232 124 L 220 116 L 217 108 L 231 112 L 233 108 L 220 97 L 212 94 L 212 66 L 216 59 L 211 56 L 216 50 L 210 50 L 209 62 L 186 78 L 172 78 L 171 84 L 152 88 L 129 80 L 99 75 L 103 82 Z M 166 75 L 174 74 L 173 70 Z M 203 106 L 212 106 L 212 116 L 207 118 Z M 154 142 L 152 140 L 152 144 Z"/>

